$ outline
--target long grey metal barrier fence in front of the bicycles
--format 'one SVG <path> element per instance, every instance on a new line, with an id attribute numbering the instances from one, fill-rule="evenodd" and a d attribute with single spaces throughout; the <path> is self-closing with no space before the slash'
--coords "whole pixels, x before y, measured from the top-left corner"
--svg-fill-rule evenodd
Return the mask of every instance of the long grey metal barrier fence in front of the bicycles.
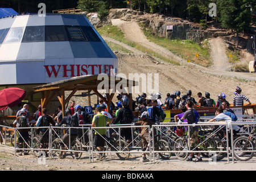
<path id="1" fill-rule="evenodd" d="M 80 127 L 66 127 L 66 126 L 50 126 L 50 127 L 27 127 L 23 129 L 29 129 L 29 138 L 25 140 L 20 135 L 20 130 L 17 128 L 0 126 L 3 127 L 1 133 L 1 146 L 9 147 L 13 149 L 14 154 L 16 156 L 17 151 L 26 150 L 29 152 L 34 152 L 36 155 L 40 155 L 41 152 L 48 152 L 49 158 L 56 158 L 60 155 L 61 152 L 66 152 L 67 154 L 71 154 L 74 156 L 73 158 L 89 158 L 90 162 L 94 162 L 95 158 L 99 153 L 108 155 L 110 157 L 118 156 L 120 159 L 129 160 L 131 154 L 138 154 L 141 156 L 142 153 L 145 153 L 149 156 L 150 162 L 155 162 L 156 156 L 160 156 L 162 159 L 174 159 L 177 156 L 184 154 L 184 158 L 188 156 L 191 152 L 208 155 L 208 158 L 215 159 L 215 157 L 219 157 L 221 154 L 225 157 L 227 162 L 234 162 L 235 159 L 238 159 L 239 156 L 242 159 L 242 155 L 248 155 L 255 151 L 255 139 L 256 135 L 254 133 L 254 126 L 256 125 L 255 115 L 250 115 L 250 117 L 246 116 L 242 120 L 238 122 L 207 122 L 210 118 L 201 118 L 201 121 L 196 125 L 199 126 L 200 131 L 208 131 L 204 137 L 199 137 L 198 144 L 196 147 L 191 147 L 191 136 L 190 136 L 190 127 L 194 125 L 177 125 L 174 122 L 168 123 L 158 123 L 157 125 L 150 126 L 135 126 L 135 125 L 110 125 L 108 127 L 91 127 L 91 125 L 81 125 Z M 234 138 L 233 126 L 236 125 L 238 130 L 236 131 L 236 137 Z M 187 135 L 178 136 L 175 133 L 175 128 L 178 126 L 183 126 L 187 129 Z M 139 129 L 147 127 L 148 129 L 148 137 L 151 142 L 148 144 L 147 151 L 142 151 L 142 138 L 139 133 Z M 37 129 L 46 129 L 45 133 L 48 136 L 49 146 L 46 148 L 40 148 L 40 137 L 37 132 Z M 64 133 L 71 131 L 71 129 L 79 130 L 79 137 L 76 138 L 76 144 L 73 143 L 71 139 L 71 135 L 69 135 L 68 142 L 63 141 Z M 98 133 L 98 129 L 106 129 L 106 136 L 104 137 Z M 125 138 L 123 138 L 120 133 L 122 129 L 131 129 L 131 141 L 127 142 Z M 225 135 L 229 136 L 226 138 L 217 138 L 218 131 L 224 130 Z M 96 147 L 94 147 L 94 136 L 99 135 L 100 137 L 104 137 L 105 139 L 105 150 L 97 151 Z M 24 140 L 26 143 L 23 148 L 16 148 L 16 143 L 18 143 L 18 136 L 20 139 Z M 248 140 L 252 140 L 253 144 L 249 147 L 240 147 L 238 148 L 238 144 L 234 146 L 234 142 L 236 142 L 240 137 L 247 137 Z M 179 139 L 179 140 L 177 140 Z M 213 140 L 215 139 L 215 140 Z M 166 142 L 163 142 L 166 141 Z M 185 141 L 187 142 L 184 148 L 180 150 L 181 145 L 177 141 Z M 224 146 L 218 146 L 216 148 L 211 147 L 212 143 L 209 141 L 217 141 L 219 143 L 224 143 Z M 242 142 L 245 142 L 241 140 Z M 162 142 L 162 143 L 161 143 Z M 62 143 L 62 148 L 60 144 Z M 74 148 L 76 145 L 76 148 Z M 164 149 L 160 147 L 160 145 L 165 145 Z M 213 144 L 212 144 L 213 145 Z M 77 154 L 80 156 L 77 157 Z M 180 158 L 178 158 L 180 159 Z M 247 158 L 246 158 L 247 159 Z M 184 159 L 180 159 L 184 160 Z M 249 160 L 249 159 L 248 159 Z"/>

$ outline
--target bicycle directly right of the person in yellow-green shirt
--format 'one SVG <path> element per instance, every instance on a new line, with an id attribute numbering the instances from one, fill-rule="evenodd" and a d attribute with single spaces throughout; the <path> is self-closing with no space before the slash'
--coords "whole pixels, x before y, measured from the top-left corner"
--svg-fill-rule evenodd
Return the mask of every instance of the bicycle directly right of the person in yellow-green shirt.
<path id="1" fill-rule="evenodd" d="M 130 149 L 127 146 L 127 143 L 123 139 L 119 139 L 117 133 L 112 133 L 110 137 L 104 137 L 105 139 L 105 146 L 104 146 L 104 151 L 113 151 L 115 154 L 118 156 L 119 159 L 121 160 L 127 160 L 129 159 L 130 156 Z M 96 151 L 96 149 L 94 149 Z M 100 153 L 95 153 L 96 158 L 99 158 Z"/>

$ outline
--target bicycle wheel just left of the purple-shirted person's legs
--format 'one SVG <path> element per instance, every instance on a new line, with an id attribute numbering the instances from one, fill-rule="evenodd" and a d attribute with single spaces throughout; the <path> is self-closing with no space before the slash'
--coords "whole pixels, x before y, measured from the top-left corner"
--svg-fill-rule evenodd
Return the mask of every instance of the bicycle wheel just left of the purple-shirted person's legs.
<path id="1" fill-rule="evenodd" d="M 175 155 L 179 160 L 187 159 L 188 142 L 183 138 L 177 138 L 174 143 L 174 151 L 180 151 L 180 152 L 175 152 Z"/>

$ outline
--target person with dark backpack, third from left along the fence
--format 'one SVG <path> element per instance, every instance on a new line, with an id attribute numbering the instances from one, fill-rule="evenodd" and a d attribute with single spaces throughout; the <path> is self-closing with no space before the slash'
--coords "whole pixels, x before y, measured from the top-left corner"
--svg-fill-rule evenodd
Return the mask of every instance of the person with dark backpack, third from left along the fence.
<path id="1" fill-rule="evenodd" d="M 63 119 L 61 119 L 60 123 L 58 124 L 58 126 L 61 125 L 67 125 L 67 127 L 74 127 L 74 124 L 72 123 L 72 111 L 70 108 L 65 110 L 65 117 Z M 77 120 L 73 120 L 73 122 L 76 122 L 76 126 L 79 125 Z M 68 144 L 69 143 L 69 131 L 70 131 L 70 137 L 71 137 L 71 143 L 73 142 L 73 140 L 76 140 L 77 135 L 78 135 L 78 131 L 77 129 L 73 129 L 71 128 L 70 130 L 67 130 L 67 133 L 64 134 L 63 138 L 61 139 L 63 142 L 60 142 L 60 146 L 61 149 L 64 150 L 65 145 L 64 144 Z M 77 155 L 77 154 L 76 154 Z M 65 152 L 60 152 L 60 159 L 64 159 L 65 158 Z"/>

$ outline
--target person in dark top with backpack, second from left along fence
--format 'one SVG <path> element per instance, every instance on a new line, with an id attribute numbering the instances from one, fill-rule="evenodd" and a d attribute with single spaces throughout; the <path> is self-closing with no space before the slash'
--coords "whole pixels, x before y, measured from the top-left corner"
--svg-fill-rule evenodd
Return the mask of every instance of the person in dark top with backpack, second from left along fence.
<path id="1" fill-rule="evenodd" d="M 52 126 L 55 126 L 55 122 L 53 121 L 52 117 L 47 115 L 47 109 L 43 108 L 43 115 L 41 115 L 38 118 L 38 121 L 36 122 L 37 127 L 45 127 L 39 129 L 39 142 L 40 142 L 40 148 L 44 147 L 44 144 L 46 145 L 46 148 L 48 148 L 49 145 L 49 129 L 48 127 L 50 124 Z M 47 154 L 46 154 L 47 155 Z"/>

